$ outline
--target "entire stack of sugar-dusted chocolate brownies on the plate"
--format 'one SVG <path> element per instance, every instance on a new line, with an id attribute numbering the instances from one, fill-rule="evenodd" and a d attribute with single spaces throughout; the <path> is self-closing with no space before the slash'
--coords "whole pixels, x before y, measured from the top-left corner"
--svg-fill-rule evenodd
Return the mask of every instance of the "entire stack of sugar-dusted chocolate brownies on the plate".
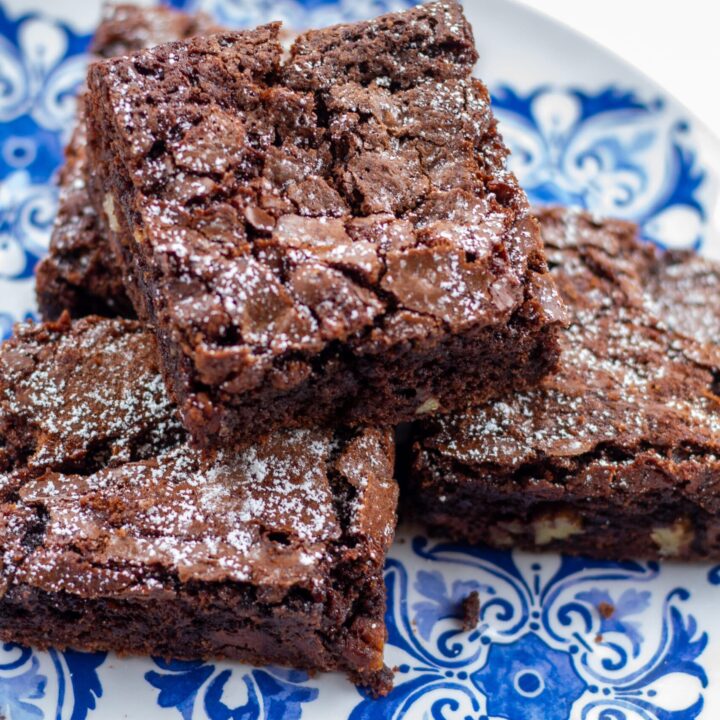
<path id="1" fill-rule="evenodd" d="M 456 539 L 720 555 L 718 269 L 533 216 L 454 0 L 280 33 L 97 31 L 0 351 L 0 637 L 383 694 L 394 477 Z"/>

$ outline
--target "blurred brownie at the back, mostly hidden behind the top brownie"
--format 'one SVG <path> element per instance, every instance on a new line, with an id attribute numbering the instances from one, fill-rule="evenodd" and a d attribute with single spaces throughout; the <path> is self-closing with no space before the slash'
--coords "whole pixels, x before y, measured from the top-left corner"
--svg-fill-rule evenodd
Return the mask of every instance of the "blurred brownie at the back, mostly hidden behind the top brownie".
<path id="1" fill-rule="evenodd" d="M 203 14 L 115 5 L 108 7 L 91 52 L 98 58 L 127 55 L 213 30 L 216 26 Z M 106 230 L 88 195 L 86 142 L 81 93 L 75 127 L 65 149 L 65 165 L 58 177 L 59 208 L 48 255 L 37 268 L 38 305 L 48 320 L 56 320 L 63 310 L 73 317 L 134 315 Z"/>

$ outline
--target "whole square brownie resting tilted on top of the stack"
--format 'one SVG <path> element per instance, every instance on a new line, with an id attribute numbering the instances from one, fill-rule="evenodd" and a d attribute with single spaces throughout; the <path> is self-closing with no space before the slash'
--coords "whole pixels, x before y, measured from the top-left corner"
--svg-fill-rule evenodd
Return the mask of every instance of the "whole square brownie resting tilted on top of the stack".
<path id="1" fill-rule="evenodd" d="M 114 248 L 201 445 L 535 384 L 561 309 L 455 2 L 89 72 Z"/>

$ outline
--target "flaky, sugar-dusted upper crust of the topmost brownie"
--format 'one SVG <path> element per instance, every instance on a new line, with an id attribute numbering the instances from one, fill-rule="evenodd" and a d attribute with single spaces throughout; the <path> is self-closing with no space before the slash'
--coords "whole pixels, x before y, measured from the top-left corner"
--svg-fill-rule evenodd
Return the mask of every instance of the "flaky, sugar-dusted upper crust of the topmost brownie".
<path id="1" fill-rule="evenodd" d="M 118 241 L 141 258 L 131 276 L 157 270 L 149 301 L 169 309 L 167 330 L 192 360 L 183 382 L 256 388 L 279 357 L 348 340 L 361 352 L 390 321 L 401 338 L 408 311 L 454 331 L 504 324 L 537 235 L 471 78 L 459 6 L 360 24 L 339 44 L 338 29 L 302 36 L 279 73 L 263 32 L 166 45 L 94 74 L 107 114 L 95 152 L 124 148 L 140 209 L 133 227 L 137 213 L 117 212 Z M 127 200 L 110 178 L 104 190 L 118 208 Z M 378 215 L 391 221 L 354 226 Z M 401 243 L 388 241 L 393 224 Z"/>

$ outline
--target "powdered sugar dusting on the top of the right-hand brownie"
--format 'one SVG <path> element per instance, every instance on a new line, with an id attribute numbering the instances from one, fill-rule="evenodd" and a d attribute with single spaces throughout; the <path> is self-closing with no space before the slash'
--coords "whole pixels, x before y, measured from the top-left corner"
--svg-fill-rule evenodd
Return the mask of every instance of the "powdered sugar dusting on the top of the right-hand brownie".
<path id="1" fill-rule="evenodd" d="M 653 314 L 658 302 L 642 290 L 652 255 L 632 236 L 623 237 L 626 224 L 600 224 L 588 235 L 576 213 L 564 217 L 567 232 L 557 243 L 554 234 L 545 237 L 571 313 L 559 372 L 538 390 L 443 420 L 428 442 L 502 473 L 587 454 L 607 464 L 617 454 L 632 457 L 639 447 L 659 455 L 681 448 L 683 457 L 692 455 L 689 448 L 720 454 L 714 389 L 720 354 L 681 334 L 682 324 L 673 331 Z M 676 310 L 682 314 L 682 305 Z M 697 336 L 706 339 L 702 331 Z M 604 454 L 608 447 L 615 455 Z"/>

